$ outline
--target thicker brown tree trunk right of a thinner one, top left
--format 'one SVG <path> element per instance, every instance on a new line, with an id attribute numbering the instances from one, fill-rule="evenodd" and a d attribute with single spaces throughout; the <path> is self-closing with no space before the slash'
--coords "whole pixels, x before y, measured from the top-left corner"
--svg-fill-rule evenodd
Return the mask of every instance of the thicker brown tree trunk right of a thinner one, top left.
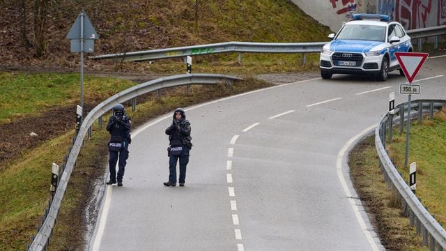
<path id="1" fill-rule="evenodd" d="M 45 28 L 47 23 L 48 0 L 34 0 L 34 45 L 36 56 L 45 54 Z"/>

